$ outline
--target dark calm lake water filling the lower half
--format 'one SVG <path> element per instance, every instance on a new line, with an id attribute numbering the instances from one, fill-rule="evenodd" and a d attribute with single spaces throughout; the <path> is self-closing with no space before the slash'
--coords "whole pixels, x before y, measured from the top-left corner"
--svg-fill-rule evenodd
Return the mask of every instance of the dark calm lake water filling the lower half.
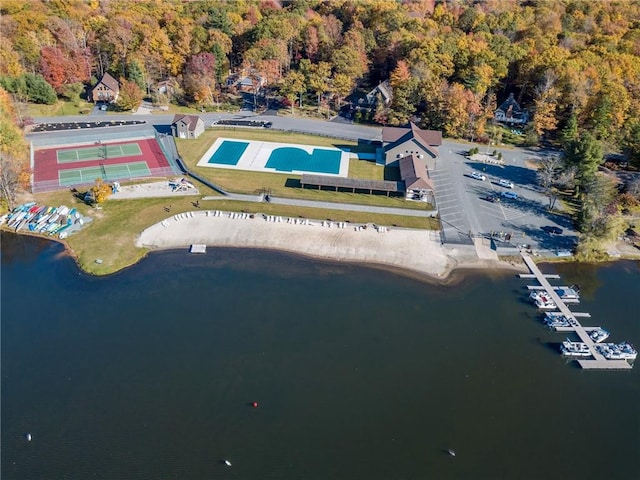
<path id="1" fill-rule="evenodd" d="M 512 273 L 209 249 L 94 278 L 6 233 L 1 259 L 3 479 L 640 477 L 639 366 L 567 363 Z M 638 262 L 543 271 L 639 346 Z"/>

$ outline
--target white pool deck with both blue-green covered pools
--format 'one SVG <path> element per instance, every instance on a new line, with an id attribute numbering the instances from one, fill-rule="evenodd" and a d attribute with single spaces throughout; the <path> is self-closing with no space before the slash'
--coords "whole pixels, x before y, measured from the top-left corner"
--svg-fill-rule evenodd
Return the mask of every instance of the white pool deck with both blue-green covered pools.
<path id="1" fill-rule="evenodd" d="M 349 152 L 331 147 L 218 138 L 199 167 L 347 177 Z"/>

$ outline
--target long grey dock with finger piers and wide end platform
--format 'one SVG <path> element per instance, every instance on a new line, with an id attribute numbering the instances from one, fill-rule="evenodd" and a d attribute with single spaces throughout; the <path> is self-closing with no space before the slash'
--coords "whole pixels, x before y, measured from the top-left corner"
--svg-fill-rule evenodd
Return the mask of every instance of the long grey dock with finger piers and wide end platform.
<path id="1" fill-rule="evenodd" d="M 589 351 L 591 353 L 591 357 L 589 359 L 577 359 L 578 364 L 584 368 L 589 370 L 629 370 L 633 368 L 633 366 L 624 359 L 607 359 L 605 358 L 596 348 L 596 342 L 589 336 L 589 333 L 592 332 L 597 327 L 583 327 L 582 324 L 578 321 L 578 318 L 588 318 L 590 315 L 588 313 L 573 313 L 567 307 L 567 301 L 560 298 L 558 295 L 558 291 L 562 288 L 567 287 L 558 287 L 553 286 L 549 283 L 549 279 L 559 279 L 559 275 L 545 275 L 543 274 L 538 266 L 535 264 L 533 259 L 525 252 L 520 252 L 524 263 L 527 265 L 527 268 L 531 271 L 530 274 L 520 274 L 520 278 L 535 278 L 538 280 L 539 286 L 529 286 L 529 290 L 544 290 L 546 294 L 551 298 L 551 300 L 556 304 L 560 313 L 569 320 L 570 325 L 558 327 L 557 331 L 563 332 L 574 332 L 578 337 L 580 337 L 580 341 L 587 345 Z"/>

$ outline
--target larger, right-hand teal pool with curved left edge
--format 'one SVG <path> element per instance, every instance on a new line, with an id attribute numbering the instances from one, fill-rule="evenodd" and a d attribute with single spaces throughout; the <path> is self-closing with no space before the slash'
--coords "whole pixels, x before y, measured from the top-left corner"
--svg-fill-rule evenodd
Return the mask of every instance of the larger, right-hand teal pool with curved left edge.
<path id="1" fill-rule="evenodd" d="M 278 172 L 340 173 L 341 152 L 314 148 L 310 155 L 301 148 L 280 147 L 271 152 L 266 168 Z"/>

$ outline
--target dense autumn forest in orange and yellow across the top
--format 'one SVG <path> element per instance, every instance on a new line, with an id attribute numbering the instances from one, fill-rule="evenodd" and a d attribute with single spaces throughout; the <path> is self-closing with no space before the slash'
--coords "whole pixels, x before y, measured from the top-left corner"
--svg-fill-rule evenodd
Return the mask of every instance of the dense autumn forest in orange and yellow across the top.
<path id="1" fill-rule="evenodd" d="M 513 93 L 529 143 L 564 148 L 584 186 L 602 150 L 640 165 L 637 0 L 3 0 L 0 14 L 16 101 L 77 98 L 109 72 L 142 94 L 173 79 L 204 107 L 243 70 L 320 109 L 388 79 L 380 124 L 483 139 Z M 575 160 L 592 147 L 600 158 Z"/>

